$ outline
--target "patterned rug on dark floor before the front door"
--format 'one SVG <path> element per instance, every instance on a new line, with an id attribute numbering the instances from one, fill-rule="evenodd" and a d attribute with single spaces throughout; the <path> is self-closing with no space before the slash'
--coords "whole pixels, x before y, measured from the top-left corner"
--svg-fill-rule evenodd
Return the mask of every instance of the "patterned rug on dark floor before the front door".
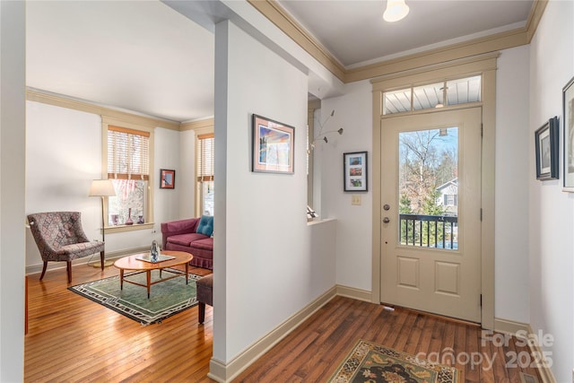
<path id="1" fill-rule="evenodd" d="M 456 383 L 457 369 L 360 340 L 331 383 Z"/>

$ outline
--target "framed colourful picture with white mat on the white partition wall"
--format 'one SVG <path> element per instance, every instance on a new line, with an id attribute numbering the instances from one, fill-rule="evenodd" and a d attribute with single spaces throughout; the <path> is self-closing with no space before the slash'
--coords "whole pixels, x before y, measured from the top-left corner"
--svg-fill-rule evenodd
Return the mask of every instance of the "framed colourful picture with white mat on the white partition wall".
<path id="1" fill-rule="evenodd" d="M 293 173 L 295 128 L 253 115 L 252 171 Z"/>

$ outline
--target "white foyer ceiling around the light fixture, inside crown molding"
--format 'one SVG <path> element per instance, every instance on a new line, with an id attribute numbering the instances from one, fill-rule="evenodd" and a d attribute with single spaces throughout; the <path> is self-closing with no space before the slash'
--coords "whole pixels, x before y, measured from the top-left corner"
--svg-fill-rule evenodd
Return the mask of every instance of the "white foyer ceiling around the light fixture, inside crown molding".
<path id="1" fill-rule="evenodd" d="M 347 69 L 522 27 L 533 4 L 532 0 L 405 2 L 408 15 L 399 22 L 385 22 L 384 0 L 279 1 Z"/>

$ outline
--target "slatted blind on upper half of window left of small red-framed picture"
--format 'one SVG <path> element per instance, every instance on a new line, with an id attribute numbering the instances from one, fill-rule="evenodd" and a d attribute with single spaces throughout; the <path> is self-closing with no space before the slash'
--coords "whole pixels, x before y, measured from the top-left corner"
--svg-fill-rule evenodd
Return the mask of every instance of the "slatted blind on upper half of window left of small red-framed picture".
<path id="1" fill-rule="evenodd" d="M 149 179 L 150 134 L 108 126 L 108 178 Z"/>

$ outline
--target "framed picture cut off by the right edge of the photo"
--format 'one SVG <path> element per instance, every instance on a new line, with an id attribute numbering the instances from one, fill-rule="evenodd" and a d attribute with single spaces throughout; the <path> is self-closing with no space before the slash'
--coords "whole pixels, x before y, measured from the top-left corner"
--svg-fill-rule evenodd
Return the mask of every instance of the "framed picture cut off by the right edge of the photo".
<path id="1" fill-rule="evenodd" d="M 563 191 L 574 193 L 574 77 L 562 88 Z"/>

